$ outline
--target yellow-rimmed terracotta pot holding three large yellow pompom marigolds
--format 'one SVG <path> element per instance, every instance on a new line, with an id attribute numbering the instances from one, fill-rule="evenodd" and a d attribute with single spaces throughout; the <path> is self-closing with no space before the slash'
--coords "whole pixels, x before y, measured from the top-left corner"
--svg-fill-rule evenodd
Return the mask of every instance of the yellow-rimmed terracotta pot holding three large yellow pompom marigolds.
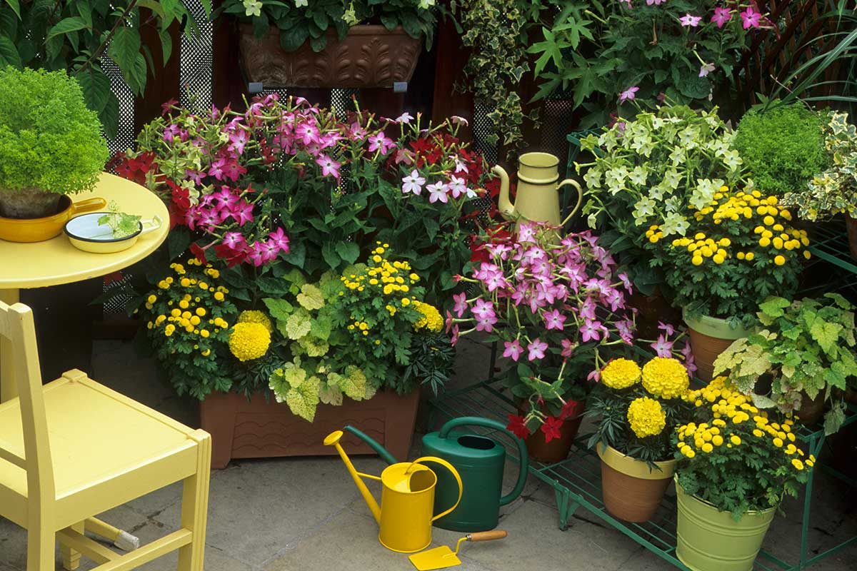
<path id="1" fill-rule="evenodd" d="M 655 462 L 658 471 L 602 443 L 596 445 L 596 451 L 601 458 L 601 491 L 607 511 L 620 520 L 650 520 L 673 479 L 675 461 Z"/>

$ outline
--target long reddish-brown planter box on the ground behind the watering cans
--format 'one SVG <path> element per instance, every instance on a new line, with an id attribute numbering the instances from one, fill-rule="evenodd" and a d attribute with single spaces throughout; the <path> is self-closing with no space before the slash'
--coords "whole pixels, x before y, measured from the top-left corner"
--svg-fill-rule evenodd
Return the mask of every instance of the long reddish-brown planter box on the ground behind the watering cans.
<path id="1" fill-rule="evenodd" d="M 320 404 L 312 423 L 295 416 L 285 403 L 236 393 L 216 393 L 200 403 L 202 430 L 212 435 L 212 467 L 225 468 L 232 458 L 275 458 L 335 454 L 322 441 L 345 425 L 354 425 L 375 438 L 397 459 L 405 460 L 417 421 L 420 393 L 399 396 L 379 392 L 369 401 L 345 399 L 341 407 Z M 346 432 L 349 455 L 375 454 L 362 440 Z"/>

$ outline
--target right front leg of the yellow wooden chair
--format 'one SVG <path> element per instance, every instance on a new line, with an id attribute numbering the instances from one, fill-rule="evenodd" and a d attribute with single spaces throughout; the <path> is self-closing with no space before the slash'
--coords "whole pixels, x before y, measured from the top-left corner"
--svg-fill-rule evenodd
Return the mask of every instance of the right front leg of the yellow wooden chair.
<path id="1" fill-rule="evenodd" d="M 184 480 L 182 527 L 194 534 L 189 545 L 178 550 L 178 571 L 202 571 L 206 552 L 208 486 L 211 477 L 211 437 L 198 431 L 196 473 Z"/>

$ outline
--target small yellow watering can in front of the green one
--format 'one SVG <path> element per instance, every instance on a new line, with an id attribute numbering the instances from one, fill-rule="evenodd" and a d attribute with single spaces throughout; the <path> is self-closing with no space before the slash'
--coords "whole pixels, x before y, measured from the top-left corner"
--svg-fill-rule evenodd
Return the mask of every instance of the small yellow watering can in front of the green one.
<path id="1" fill-rule="evenodd" d="M 335 446 L 336 451 L 345 467 L 351 473 L 351 478 L 357 484 L 357 489 L 363 495 L 366 505 L 378 525 L 381 532 L 378 540 L 381 545 L 391 551 L 399 553 L 414 553 L 422 551 L 431 544 L 431 524 L 434 520 L 443 517 L 458 508 L 461 501 L 461 493 L 464 486 L 461 477 L 452 467 L 452 464 L 434 456 L 424 456 L 412 462 L 399 462 L 384 468 L 381 477 L 357 472 L 351 464 L 345 450 L 339 444 L 342 431 L 331 432 L 324 439 L 325 446 Z M 434 511 L 434 485 L 437 484 L 437 476 L 430 468 L 423 466 L 420 462 L 432 461 L 446 467 L 458 482 L 458 500 L 455 505 L 440 514 L 432 515 Z M 381 506 L 372 497 L 372 492 L 363 483 L 363 478 L 381 480 L 383 490 L 381 491 Z"/>

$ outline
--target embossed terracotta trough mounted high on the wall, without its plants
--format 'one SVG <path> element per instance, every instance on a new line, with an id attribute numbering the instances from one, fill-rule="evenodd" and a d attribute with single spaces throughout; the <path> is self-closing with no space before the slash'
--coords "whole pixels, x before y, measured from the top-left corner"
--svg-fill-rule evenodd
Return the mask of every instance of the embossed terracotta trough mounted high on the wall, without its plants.
<path id="1" fill-rule="evenodd" d="M 297 51 L 279 45 L 279 29 L 256 38 L 242 24 L 239 49 L 250 81 L 266 89 L 279 87 L 392 87 L 410 81 L 423 51 L 423 39 L 411 38 L 402 27 L 354 26 L 340 40 L 327 31 L 327 47 L 316 53 L 309 42 Z"/>

